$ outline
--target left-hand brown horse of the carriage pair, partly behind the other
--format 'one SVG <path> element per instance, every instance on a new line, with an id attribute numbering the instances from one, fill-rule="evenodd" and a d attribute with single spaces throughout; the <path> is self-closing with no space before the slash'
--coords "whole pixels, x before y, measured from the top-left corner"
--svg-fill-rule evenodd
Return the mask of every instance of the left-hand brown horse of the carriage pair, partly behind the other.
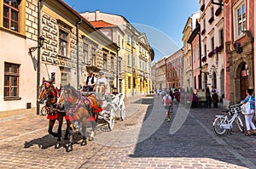
<path id="1" fill-rule="evenodd" d="M 55 149 L 59 149 L 61 147 L 61 127 L 63 124 L 63 117 L 66 115 L 66 112 L 63 110 L 56 109 L 56 102 L 57 102 L 57 92 L 55 87 L 52 85 L 51 81 L 45 81 L 43 78 L 42 85 L 40 86 L 40 93 L 38 97 L 39 104 L 45 104 L 46 111 L 47 111 L 47 119 L 49 119 L 49 134 L 57 137 L 57 143 L 55 144 Z M 53 127 L 55 121 L 59 121 L 58 132 L 53 132 Z M 67 121 L 67 127 L 68 127 Z M 66 130 L 65 138 L 67 138 L 68 131 Z"/>

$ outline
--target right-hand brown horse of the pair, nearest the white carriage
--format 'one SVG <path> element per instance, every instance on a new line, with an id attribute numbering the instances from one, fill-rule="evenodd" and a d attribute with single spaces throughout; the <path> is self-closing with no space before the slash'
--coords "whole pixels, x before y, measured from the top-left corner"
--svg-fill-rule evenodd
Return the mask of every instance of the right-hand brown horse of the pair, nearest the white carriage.
<path id="1" fill-rule="evenodd" d="M 79 132 L 83 135 L 83 140 L 81 145 L 86 145 L 86 123 L 87 120 L 91 122 L 92 132 L 90 133 L 89 140 L 92 140 L 95 135 L 96 129 L 96 115 L 97 112 L 101 111 L 99 100 L 96 99 L 95 95 L 90 95 L 83 97 L 80 92 L 78 92 L 71 85 L 67 85 L 63 88 L 60 98 L 58 99 L 57 104 L 63 106 L 66 110 L 69 121 L 72 122 L 70 126 L 69 134 L 69 143 L 67 146 L 67 151 L 73 149 L 73 133 L 75 132 L 74 128 L 79 129 Z"/>

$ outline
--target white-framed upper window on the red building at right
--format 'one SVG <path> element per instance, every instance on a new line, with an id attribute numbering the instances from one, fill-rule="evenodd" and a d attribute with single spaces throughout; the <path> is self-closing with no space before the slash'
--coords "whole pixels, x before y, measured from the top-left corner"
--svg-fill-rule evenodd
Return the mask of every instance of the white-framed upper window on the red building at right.
<path id="1" fill-rule="evenodd" d="M 237 35 L 241 36 L 241 31 L 246 30 L 246 8 L 243 3 L 237 10 Z"/>

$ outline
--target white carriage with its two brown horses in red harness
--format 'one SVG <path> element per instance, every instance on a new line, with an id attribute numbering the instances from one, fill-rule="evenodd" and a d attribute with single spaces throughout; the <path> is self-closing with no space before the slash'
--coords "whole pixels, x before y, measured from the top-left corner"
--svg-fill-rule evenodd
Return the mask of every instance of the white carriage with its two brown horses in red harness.
<path id="1" fill-rule="evenodd" d="M 47 105 L 47 113 L 50 117 L 49 133 L 58 137 L 55 148 L 60 148 L 61 125 L 64 116 L 67 121 L 67 130 L 69 131 L 67 132 L 69 136 L 67 151 L 73 149 L 73 132 L 75 132 L 75 128 L 79 128 L 79 132 L 83 135 L 81 145 L 87 144 L 86 123 L 88 120 L 91 122 L 92 127 L 89 140 L 92 140 L 95 135 L 98 118 L 107 121 L 110 130 L 114 126 L 116 111 L 120 110 L 122 120 L 125 118 L 124 95 L 121 93 L 115 96 L 102 95 L 102 93 L 81 93 L 71 85 L 62 87 L 60 97 L 57 97 L 55 93 L 55 87 L 51 82 L 43 82 L 38 99 L 40 104 Z M 59 121 L 58 133 L 52 132 L 55 120 Z"/>

